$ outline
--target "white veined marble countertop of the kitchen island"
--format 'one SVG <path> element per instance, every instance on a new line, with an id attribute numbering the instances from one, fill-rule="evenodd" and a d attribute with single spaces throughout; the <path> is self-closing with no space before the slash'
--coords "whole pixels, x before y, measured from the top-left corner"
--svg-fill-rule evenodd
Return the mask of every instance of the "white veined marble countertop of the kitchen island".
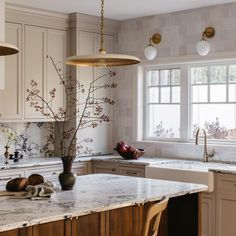
<path id="1" fill-rule="evenodd" d="M 79 176 L 73 191 L 58 190 L 49 200 L 1 197 L 0 232 L 206 189 L 199 184 L 108 174 Z"/>

